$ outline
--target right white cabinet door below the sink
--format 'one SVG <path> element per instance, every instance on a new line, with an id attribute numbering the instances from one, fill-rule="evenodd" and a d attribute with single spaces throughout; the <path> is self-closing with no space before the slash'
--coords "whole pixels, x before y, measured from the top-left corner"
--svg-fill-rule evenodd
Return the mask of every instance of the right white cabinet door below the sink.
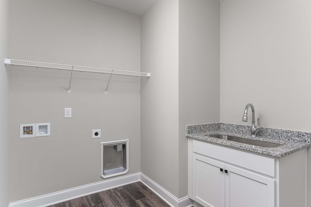
<path id="1" fill-rule="evenodd" d="M 226 207 L 274 207 L 275 180 L 226 165 Z"/>

